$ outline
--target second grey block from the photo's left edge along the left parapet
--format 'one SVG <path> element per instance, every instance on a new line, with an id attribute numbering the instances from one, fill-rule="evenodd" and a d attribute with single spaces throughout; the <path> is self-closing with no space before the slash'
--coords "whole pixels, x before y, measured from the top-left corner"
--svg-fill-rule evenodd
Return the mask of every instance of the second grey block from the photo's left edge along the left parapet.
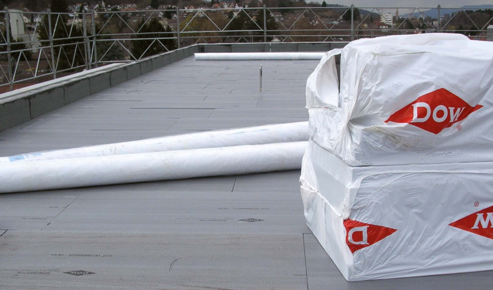
<path id="1" fill-rule="evenodd" d="M 31 119 L 66 105 L 64 95 L 64 88 L 58 87 L 31 96 L 29 98 Z"/>

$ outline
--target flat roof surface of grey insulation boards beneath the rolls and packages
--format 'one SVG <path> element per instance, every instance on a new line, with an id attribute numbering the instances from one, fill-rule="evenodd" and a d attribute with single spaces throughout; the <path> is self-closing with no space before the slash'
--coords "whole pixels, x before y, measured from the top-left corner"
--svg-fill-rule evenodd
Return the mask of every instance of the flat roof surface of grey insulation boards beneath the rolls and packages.
<path id="1" fill-rule="evenodd" d="M 189 57 L 0 132 L 0 156 L 306 121 L 317 64 Z M 2 194 L 0 289 L 491 287 L 492 272 L 346 282 L 305 224 L 299 176 Z"/>

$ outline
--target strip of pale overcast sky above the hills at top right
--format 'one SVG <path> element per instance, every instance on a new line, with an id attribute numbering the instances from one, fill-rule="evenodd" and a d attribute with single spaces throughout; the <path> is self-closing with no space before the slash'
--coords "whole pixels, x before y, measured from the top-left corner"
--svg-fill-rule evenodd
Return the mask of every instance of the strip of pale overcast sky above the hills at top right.
<path id="1" fill-rule="evenodd" d="M 323 0 L 315 1 L 322 3 Z M 325 0 L 325 2 L 347 6 L 354 4 L 356 7 L 436 7 L 440 4 L 443 8 L 457 8 L 467 5 L 491 4 L 488 0 Z"/>

